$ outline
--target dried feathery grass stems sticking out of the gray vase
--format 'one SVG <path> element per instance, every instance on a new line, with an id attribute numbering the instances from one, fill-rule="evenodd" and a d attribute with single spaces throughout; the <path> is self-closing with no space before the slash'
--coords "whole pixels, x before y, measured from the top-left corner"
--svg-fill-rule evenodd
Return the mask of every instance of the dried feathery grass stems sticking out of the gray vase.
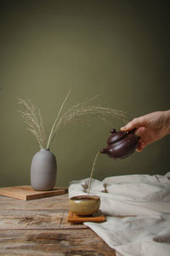
<path id="1" fill-rule="evenodd" d="M 58 131 L 62 125 L 66 125 L 72 122 L 89 124 L 90 117 L 102 119 L 103 121 L 112 125 L 113 119 L 117 118 L 123 120 L 125 118 L 125 114 L 120 110 L 105 108 L 99 105 L 92 105 L 91 102 L 95 97 L 85 102 L 78 103 L 71 108 L 68 108 L 68 110 L 60 116 L 60 113 L 70 93 L 71 90 L 69 90 L 65 96 L 64 102 L 62 102 L 61 107 L 59 108 L 59 113 L 57 114 L 57 117 L 54 120 L 54 125 L 52 126 L 52 129 L 49 133 L 47 146 L 45 146 L 45 131 L 42 124 L 42 116 L 40 110 L 35 107 L 30 100 L 23 100 L 20 98 L 19 103 L 24 108 L 24 111 L 20 111 L 21 116 L 28 125 L 28 130 L 31 131 L 36 137 L 40 148 L 50 148 L 56 131 Z"/>

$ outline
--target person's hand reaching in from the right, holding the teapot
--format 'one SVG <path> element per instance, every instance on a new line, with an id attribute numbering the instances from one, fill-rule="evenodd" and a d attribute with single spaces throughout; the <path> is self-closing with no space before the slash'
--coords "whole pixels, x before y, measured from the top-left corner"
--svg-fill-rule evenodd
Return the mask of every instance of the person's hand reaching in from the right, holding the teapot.
<path id="1" fill-rule="evenodd" d="M 135 134 L 140 137 L 137 151 L 142 151 L 148 144 L 165 137 L 170 133 L 170 110 L 148 113 L 135 118 L 121 128 L 122 131 L 131 131 L 137 128 Z"/>

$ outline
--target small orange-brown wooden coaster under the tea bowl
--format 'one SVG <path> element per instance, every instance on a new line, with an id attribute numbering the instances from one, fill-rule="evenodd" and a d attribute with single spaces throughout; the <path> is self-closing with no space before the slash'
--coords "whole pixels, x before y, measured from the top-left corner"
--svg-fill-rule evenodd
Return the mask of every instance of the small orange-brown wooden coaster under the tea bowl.
<path id="1" fill-rule="evenodd" d="M 69 222 L 74 222 L 74 223 L 82 223 L 82 222 L 103 222 L 105 221 L 105 216 L 102 214 L 101 211 L 95 212 L 93 215 L 88 215 L 88 216 L 82 216 L 82 215 L 77 215 L 76 213 L 69 212 L 68 216 L 68 221 Z"/>

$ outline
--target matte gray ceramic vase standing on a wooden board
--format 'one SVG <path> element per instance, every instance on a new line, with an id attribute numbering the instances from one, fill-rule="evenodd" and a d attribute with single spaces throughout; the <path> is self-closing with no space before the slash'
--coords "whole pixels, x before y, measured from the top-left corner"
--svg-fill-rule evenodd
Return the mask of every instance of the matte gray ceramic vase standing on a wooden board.
<path id="1" fill-rule="evenodd" d="M 53 153 L 42 148 L 31 161 L 31 187 L 39 191 L 54 188 L 57 163 Z"/>

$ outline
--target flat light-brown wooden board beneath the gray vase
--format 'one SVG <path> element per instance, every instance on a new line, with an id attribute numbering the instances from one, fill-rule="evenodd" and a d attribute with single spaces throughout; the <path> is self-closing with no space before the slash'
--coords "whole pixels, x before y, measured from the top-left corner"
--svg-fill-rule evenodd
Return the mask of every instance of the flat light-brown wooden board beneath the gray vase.
<path id="1" fill-rule="evenodd" d="M 49 191 L 36 191 L 32 189 L 31 186 L 13 186 L 0 188 L 0 195 L 25 201 L 54 195 L 63 195 L 66 192 L 66 188 L 54 188 L 53 190 Z"/>

